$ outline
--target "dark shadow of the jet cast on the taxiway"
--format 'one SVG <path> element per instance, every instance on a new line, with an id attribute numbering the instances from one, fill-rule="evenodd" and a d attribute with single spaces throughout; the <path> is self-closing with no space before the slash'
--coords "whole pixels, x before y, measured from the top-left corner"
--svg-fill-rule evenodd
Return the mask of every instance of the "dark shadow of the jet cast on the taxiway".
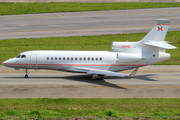
<path id="1" fill-rule="evenodd" d="M 116 77 L 116 76 L 107 76 L 105 77 L 105 79 L 139 79 L 139 80 L 146 80 L 146 81 L 158 81 L 155 80 L 153 78 L 157 78 L 155 77 L 156 74 L 148 74 L 148 75 L 138 75 L 138 76 L 133 76 L 133 77 Z M 40 79 L 40 80 L 55 80 L 55 79 L 66 79 L 69 81 L 78 81 L 78 82 L 85 82 L 85 83 L 91 83 L 91 84 L 95 84 L 95 85 L 101 85 L 101 86 L 106 86 L 106 87 L 112 87 L 112 88 L 117 88 L 117 89 L 127 89 L 125 87 L 110 83 L 103 80 L 92 80 L 91 79 L 92 75 L 91 74 L 86 74 L 86 75 L 71 75 L 71 76 L 65 76 L 65 77 L 29 77 L 26 78 L 27 80 L 33 80 L 33 79 Z M 24 77 L 3 77 L 5 79 L 25 79 Z"/>

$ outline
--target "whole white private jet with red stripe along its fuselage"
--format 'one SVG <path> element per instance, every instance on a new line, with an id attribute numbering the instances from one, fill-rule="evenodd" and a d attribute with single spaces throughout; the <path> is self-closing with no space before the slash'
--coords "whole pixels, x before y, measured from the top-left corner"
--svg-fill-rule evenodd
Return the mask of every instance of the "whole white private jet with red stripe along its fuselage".
<path id="1" fill-rule="evenodd" d="M 105 75 L 134 76 L 139 67 L 170 58 L 166 49 L 176 47 L 164 41 L 170 20 L 157 19 L 158 24 L 138 42 L 112 42 L 112 51 L 27 51 L 4 61 L 2 65 L 15 69 L 50 69 L 93 74 L 92 79 Z M 134 69 L 130 74 L 119 71 Z"/>

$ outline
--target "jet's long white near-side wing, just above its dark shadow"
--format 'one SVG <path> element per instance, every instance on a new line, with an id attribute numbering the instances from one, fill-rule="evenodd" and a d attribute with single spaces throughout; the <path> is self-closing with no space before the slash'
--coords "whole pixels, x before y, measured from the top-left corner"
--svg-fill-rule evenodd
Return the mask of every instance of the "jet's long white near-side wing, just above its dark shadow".
<path id="1" fill-rule="evenodd" d="M 112 72 L 112 71 L 107 71 L 107 70 L 92 69 L 92 68 L 84 68 L 84 67 L 71 67 L 68 69 L 68 71 L 86 72 L 86 73 L 93 73 L 93 74 L 100 74 L 100 75 L 112 75 L 112 76 L 119 76 L 119 77 L 129 76 L 123 73 L 117 73 L 117 72 Z"/>

